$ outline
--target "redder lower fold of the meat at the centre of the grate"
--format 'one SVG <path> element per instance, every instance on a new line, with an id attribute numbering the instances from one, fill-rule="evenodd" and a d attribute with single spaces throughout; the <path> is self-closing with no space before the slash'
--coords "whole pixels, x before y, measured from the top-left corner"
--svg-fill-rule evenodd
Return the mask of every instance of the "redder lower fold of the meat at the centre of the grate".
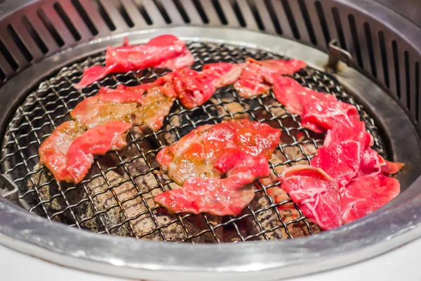
<path id="1" fill-rule="evenodd" d="M 227 178 L 189 178 L 181 189 L 163 192 L 154 201 L 171 212 L 210 213 L 236 216 L 253 200 L 253 181 L 269 176 L 269 165 L 263 156 L 253 157 L 241 150 L 229 151 L 221 163 Z M 232 157 L 232 155 L 235 155 Z"/>

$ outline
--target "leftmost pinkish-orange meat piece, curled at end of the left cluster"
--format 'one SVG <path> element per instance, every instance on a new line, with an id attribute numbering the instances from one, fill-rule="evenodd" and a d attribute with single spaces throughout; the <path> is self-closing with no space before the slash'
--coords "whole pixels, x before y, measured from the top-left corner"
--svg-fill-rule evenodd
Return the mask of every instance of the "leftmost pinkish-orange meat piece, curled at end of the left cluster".
<path id="1" fill-rule="evenodd" d="M 66 155 L 69 146 L 80 135 L 76 122 L 67 121 L 57 126 L 39 147 L 39 162 L 51 171 L 56 181 L 72 181 Z"/>

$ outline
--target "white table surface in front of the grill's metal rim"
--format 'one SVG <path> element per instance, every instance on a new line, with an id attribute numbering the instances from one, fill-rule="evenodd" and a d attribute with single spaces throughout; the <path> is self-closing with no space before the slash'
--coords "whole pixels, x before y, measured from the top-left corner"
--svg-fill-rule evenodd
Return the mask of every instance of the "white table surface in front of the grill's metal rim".
<path id="1" fill-rule="evenodd" d="M 354 281 L 354 280 L 421 280 L 421 272 L 417 270 L 417 257 L 421 251 L 421 239 L 395 249 L 382 256 L 347 266 L 338 270 L 328 271 L 317 275 L 309 275 L 293 279 L 294 281 Z M 22 270 L 25 264 L 25 270 Z M 86 273 L 72 268 L 57 266 L 36 259 L 32 256 L 20 254 L 6 247 L 0 246 L 1 280 L 60 280 L 60 281 L 124 281 L 124 279 L 106 277 Z M 358 278 L 358 279 L 356 279 Z M 276 280 L 276 279 L 274 279 Z M 246 280 L 242 280 L 246 281 Z"/>

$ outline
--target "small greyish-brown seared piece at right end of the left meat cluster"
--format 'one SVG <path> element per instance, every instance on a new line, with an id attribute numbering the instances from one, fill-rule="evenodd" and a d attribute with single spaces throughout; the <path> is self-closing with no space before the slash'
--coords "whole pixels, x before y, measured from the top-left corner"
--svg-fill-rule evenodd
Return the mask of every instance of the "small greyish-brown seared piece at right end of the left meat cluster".
<path id="1" fill-rule="evenodd" d="M 136 124 L 158 131 L 163 126 L 163 120 L 170 112 L 174 100 L 175 98 L 169 98 L 162 93 L 161 86 L 149 89 L 142 106 L 136 112 Z"/>

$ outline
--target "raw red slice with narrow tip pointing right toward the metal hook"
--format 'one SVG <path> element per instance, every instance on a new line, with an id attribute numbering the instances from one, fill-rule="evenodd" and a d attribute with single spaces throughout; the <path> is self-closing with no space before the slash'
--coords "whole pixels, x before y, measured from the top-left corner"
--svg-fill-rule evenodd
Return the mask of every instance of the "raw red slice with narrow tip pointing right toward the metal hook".
<path id="1" fill-rule="evenodd" d="M 301 60 L 253 60 L 247 58 L 246 67 L 234 88 L 243 98 L 267 92 L 274 84 L 274 75 L 290 75 L 306 67 Z"/>

